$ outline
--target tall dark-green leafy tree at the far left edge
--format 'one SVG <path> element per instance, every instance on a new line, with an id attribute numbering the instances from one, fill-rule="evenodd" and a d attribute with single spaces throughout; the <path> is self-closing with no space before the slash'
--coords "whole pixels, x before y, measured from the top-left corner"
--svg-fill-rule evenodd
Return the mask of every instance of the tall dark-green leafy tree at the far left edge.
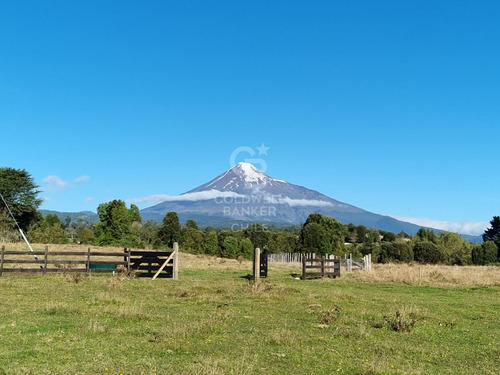
<path id="1" fill-rule="evenodd" d="M 0 194 L 23 231 L 26 231 L 31 224 L 42 220 L 42 215 L 37 210 L 42 203 L 37 197 L 40 193 L 38 188 L 39 186 L 25 170 L 0 168 Z M 8 209 L 1 199 L 0 223 L 3 223 L 3 230 L 12 225 Z"/>

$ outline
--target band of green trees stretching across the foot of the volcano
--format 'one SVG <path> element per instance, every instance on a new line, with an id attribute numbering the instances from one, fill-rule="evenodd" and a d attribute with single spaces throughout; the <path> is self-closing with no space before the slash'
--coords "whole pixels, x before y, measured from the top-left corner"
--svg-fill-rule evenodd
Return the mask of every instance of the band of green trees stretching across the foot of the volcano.
<path id="1" fill-rule="evenodd" d="M 500 262 L 500 217 L 491 220 L 483 244 L 470 244 L 457 233 L 421 228 L 414 236 L 394 234 L 363 225 L 341 224 L 332 217 L 310 214 L 302 226 L 265 227 L 249 224 L 241 230 L 200 228 L 194 220 L 181 225 L 175 212 L 161 223 L 143 221 L 139 208 L 121 200 L 97 207 L 99 223 L 61 222 L 56 214 L 38 211 L 38 186 L 24 170 L 0 168 L 0 193 L 28 239 L 37 243 L 80 243 L 164 249 L 178 242 L 183 251 L 228 258 L 251 258 L 259 247 L 270 253 L 310 252 L 354 257 L 372 254 L 375 262 L 421 262 L 443 264 L 492 264 Z M 0 240 L 19 239 L 7 207 L 0 203 Z"/>

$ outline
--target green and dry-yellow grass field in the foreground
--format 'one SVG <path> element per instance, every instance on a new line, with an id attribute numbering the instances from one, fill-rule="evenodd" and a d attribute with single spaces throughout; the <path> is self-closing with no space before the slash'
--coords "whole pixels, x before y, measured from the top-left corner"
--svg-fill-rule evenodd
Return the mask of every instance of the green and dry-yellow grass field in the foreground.
<path id="1" fill-rule="evenodd" d="M 498 373 L 498 267 L 250 270 L 182 254 L 178 281 L 0 277 L 0 374 Z"/>

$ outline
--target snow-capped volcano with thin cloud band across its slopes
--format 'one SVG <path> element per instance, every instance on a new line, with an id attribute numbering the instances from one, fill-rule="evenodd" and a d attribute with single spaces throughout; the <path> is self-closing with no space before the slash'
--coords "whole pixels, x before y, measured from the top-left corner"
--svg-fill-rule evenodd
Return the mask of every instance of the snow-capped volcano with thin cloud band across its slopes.
<path id="1" fill-rule="evenodd" d="M 268 176 L 250 163 L 238 163 L 213 180 L 184 194 L 141 211 L 143 218 L 161 220 L 175 211 L 181 220 L 201 225 L 231 226 L 261 222 L 301 224 L 312 212 L 353 223 L 399 233 L 416 233 L 416 225 L 365 211 L 315 190 Z"/>

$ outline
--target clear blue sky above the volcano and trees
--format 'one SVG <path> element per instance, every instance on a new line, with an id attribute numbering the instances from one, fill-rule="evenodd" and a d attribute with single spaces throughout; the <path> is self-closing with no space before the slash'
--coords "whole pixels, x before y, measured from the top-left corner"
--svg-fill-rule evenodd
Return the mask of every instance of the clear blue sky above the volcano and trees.
<path id="1" fill-rule="evenodd" d="M 265 145 L 272 177 L 480 232 L 500 214 L 498 14 L 498 1 L 4 2 L 0 166 L 29 171 L 42 208 L 95 211 L 183 193 Z"/>

